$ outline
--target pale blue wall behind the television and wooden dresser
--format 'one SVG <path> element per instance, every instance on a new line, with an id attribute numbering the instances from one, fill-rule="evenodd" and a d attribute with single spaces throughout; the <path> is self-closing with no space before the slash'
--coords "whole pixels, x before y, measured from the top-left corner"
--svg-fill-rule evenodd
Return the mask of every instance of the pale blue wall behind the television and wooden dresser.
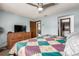
<path id="1" fill-rule="evenodd" d="M 14 25 L 26 25 L 29 32 L 29 18 L 17 16 L 8 12 L 0 11 L 0 27 L 4 28 L 4 33 L 0 34 L 0 47 L 7 44 L 7 32 L 14 31 Z"/>

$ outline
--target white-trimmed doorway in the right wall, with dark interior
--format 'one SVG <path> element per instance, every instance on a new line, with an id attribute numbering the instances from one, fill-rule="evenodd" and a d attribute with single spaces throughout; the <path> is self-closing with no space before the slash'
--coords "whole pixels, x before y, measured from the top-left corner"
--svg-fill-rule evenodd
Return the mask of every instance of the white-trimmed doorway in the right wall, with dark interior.
<path id="1" fill-rule="evenodd" d="M 72 32 L 74 32 L 74 17 L 66 16 L 66 17 L 59 18 L 58 35 L 68 36 Z"/>

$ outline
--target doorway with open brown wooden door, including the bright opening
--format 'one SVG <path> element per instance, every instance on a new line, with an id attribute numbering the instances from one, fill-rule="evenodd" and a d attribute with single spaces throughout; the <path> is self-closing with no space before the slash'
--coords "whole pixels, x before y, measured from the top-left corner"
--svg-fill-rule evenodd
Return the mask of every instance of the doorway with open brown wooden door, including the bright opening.
<path id="1" fill-rule="evenodd" d="M 31 37 L 37 37 L 41 35 L 41 21 L 30 21 Z"/>

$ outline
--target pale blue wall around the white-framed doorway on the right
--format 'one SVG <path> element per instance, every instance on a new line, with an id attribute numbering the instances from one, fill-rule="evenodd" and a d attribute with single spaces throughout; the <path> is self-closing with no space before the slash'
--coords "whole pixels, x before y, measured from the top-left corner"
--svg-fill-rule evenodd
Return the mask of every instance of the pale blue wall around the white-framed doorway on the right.
<path id="1" fill-rule="evenodd" d="M 41 20 L 41 29 L 42 35 L 44 34 L 58 34 L 58 17 L 60 16 L 74 16 L 74 31 L 79 32 L 79 9 L 67 10 L 64 12 L 60 12 L 51 16 L 40 18 Z"/>

